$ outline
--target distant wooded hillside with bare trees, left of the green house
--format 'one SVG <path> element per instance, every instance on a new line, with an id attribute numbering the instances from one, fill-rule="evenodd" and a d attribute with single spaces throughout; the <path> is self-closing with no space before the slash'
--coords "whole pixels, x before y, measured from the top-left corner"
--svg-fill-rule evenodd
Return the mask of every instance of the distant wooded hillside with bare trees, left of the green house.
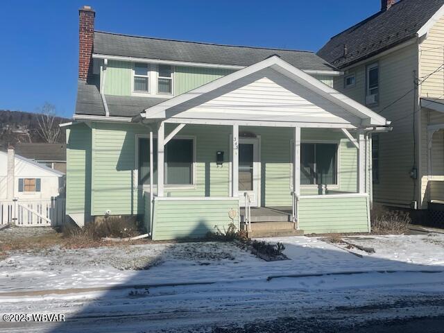
<path id="1" fill-rule="evenodd" d="M 0 110 L 0 147 L 6 148 L 8 144 L 17 144 L 18 142 L 45 142 L 39 134 L 38 117 L 42 114 Z M 59 123 L 66 123 L 71 119 L 56 117 L 53 126 Z M 65 143 L 65 131 L 62 130 L 58 142 Z"/>

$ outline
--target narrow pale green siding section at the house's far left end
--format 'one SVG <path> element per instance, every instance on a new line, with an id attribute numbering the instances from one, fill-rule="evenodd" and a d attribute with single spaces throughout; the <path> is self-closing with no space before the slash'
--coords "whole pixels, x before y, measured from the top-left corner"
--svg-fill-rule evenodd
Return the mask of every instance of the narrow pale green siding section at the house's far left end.
<path id="1" fill-rule="evenodd" d="M 89 213 L 91 130 L 84 123 L 67 129 L 67 214 Z"/>

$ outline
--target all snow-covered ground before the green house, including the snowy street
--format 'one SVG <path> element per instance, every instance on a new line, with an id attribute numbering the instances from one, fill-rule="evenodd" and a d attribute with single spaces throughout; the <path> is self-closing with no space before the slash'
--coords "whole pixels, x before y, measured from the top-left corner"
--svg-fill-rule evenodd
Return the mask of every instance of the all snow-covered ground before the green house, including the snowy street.
<path id="1" fill-rule="evenodd" d="M 64 313 L 71 318 L 71 324 L 62 326 L 67 332 L 78 329 L 74 322 L 91 332 L 110 332 L 111 325 L 117 332 L 119 326 L 110 318 L 125 314 L 139 322 L 121 323 L 122 330 L 168 332 L 187 325 L 443 295 L 444 234 L 347 240 L 376 252 L 352 250 L 359 257 L 317 237 L 266 239 L 286 246 L 284 254 L 291 260 L 278 262 L 264 262 L 234 244 L 216 242 L 12 252 L 0 261 L 0 313 Z M 118 288 L 103 290 L 113 286 Z M 418 314 L 430 310 L 416 309 Z M 444 314 L 442 306 L 433 311 Z M 104 316 L 106 324 L 98 319 Z M 146 327 L 145 321 L 151 320 L 156 324 Z M 3 330 L 16 328 L 11 324 Z M 35 332 L 35 327 L 20 330 Z M 58 327 L 57 332 L 62 331 Z"/>

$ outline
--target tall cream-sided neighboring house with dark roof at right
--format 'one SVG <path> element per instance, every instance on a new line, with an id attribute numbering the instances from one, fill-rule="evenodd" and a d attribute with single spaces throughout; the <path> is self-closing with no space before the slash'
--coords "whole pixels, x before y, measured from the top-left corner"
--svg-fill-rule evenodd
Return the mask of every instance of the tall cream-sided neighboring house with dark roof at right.
<path id="1" fill-rule="evenodd" d="M 344 71 L 335 89 L 392 121 L 373 135 L 375 202 L 424 212 L 444 202 L 443 15 L 444 0 L 383 0 L 317 53 Z"/>

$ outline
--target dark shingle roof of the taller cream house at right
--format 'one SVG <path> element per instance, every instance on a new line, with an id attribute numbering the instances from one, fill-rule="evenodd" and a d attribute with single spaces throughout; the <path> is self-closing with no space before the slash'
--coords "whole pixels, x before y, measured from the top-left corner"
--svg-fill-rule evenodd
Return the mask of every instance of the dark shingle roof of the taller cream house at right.
<path id="1" fill-rule="evenodd" d="M 443 5 L 444 0 L 401 0 L 332 37 L 317 54 L 340 69 L 348 67 L 416 37 Z"/>

